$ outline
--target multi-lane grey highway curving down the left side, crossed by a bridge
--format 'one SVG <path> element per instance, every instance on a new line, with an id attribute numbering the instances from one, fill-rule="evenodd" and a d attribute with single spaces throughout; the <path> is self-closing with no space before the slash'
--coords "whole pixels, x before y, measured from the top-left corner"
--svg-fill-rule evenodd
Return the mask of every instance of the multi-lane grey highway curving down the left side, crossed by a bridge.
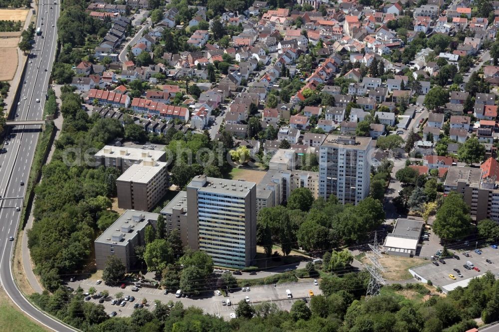
<path id="1" fill-rule="evenodd" d="M 29 59 L 30 63 L 27 64 L 24 77 L 20 80 L 22 90 L 18 100 L 13 101 L 13 113 L 17 116 L 13 116 L 11 120 L 42 119 L 56 49 L 55 26 L 60 14 L 59 5 L 60 0 L 57 0 L 56 4 L 53 0 L 43 0 L 38 5 L 36 27 L 41 27 L 43 38 L 34 37 L 35 43 L 31 50 L 34 57 Z M 13 281 L 10 265 L 15 242 L 9 241 L 9 237 L 15 238 L 17 234 L 21 212 L 16 211 L 16 207 L 22 207 L 23 203 L 22 198 L 16 197 L 25 196 L 26 186 L 21 185 L 21 181 L 27 183 L 40 128 L 40 125 L 12 127 L 9 133 L 13 137 L 4 147 L 7 151 L 0 155 L 0 195 L 3 197 L 0 200 L 0 283 L 8 297 L 25 315 L 48 329 L 70 332 L 75 330 L 40 312 L 21 295 Z"/>

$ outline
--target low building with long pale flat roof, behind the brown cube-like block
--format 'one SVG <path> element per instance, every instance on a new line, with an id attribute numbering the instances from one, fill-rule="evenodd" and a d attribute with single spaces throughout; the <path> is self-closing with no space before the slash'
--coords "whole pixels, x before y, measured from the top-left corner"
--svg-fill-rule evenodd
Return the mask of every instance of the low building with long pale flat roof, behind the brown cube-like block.
<path id="1" fill-rule="evenodd" d="M 98 166 L 114 167 L 122 172 L 132 165 L 140 164 L 142 161 L 150 159 L 158 162 L 166 162 L 166 152 L 106 145 L 95 154 L 95 162 Z"/>

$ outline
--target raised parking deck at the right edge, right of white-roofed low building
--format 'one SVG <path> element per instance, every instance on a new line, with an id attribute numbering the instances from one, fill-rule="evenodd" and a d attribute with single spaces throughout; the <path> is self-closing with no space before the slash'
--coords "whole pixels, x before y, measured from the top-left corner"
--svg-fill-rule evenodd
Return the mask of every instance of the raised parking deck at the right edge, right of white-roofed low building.
<path id="1" fill-rule="evenodd" d="M 427 282 L 431 280 L 433 285 L 440 286 L 444 291 L 450 291 L 457 286 L 466 286 L 471 278 L 479 277 L 483 275 L 487 271 L 491 271 L 495 275 L 499 273 L 499 249 L 494 249 L 492 247 L 485 247 L 481 249 L 482 254 L 477 254 L 473 249 L 470 251 L 466 251 L 470 257 L 466 257 L 463 255 L 463 252 L 455 252 L 455 254 L 459 257 L 456 258 L 447 258 L 445 259 L 446 264 L 438 263 L 439 266 L 434 265 L 433 263 L 428 263 L 422 266 L 418 266 L 410 269 L 411 274 L 416 277 L 421 278 L 422 282 Z M 486 259 L 492 261 L 492 264 L 487 263 Z M 467 270 L 463 267 L 467 261 L 470 261 L 480 269 L 480 272 L 476 270 Z M 460 278 L 457 275 L 457 272 L 453 269 L 458 269 L 463 275 Z M 449 277 L 449 275 L 454 275 L 457 279 L 453 280 Z"/>

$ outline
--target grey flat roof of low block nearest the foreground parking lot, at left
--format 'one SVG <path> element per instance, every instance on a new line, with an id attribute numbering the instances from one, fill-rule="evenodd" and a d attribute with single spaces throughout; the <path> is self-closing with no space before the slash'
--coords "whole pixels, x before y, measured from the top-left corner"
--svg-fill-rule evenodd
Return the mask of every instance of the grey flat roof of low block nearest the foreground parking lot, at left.
<path id="1" fill-rule="evenodd" d="M 146 227 L 148 220 L 158 220 L 158 213 L 126 210 L 111 226 L 109 226 L 95 242 L 125 246 L 139 230 Z"/>

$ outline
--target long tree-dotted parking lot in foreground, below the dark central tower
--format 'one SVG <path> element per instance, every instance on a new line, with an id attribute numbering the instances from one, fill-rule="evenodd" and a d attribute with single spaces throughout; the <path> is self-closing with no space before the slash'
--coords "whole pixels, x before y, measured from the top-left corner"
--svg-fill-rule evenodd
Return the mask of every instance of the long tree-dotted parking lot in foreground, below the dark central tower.
<path id="1" fill-rule="evenodd" d="M 109 297 L 102 304 L 105 308 L 106 313 L 117 312 L 118 316 L 130 316 L 134 309 L 133 305 L 135 303 L 140 303 L 143 298 L 147 299 L 147 304 L 144 308 L 148 310 L 154 310 L 154 301 L 160 300 L 163 303 L 168 303 L 169 301 L 180 301 L 185 307 L 196 306 L 202 308 L 207 314 L 219 314 L 221 317 L 229 318 L 231 313 L 234 313 L 237 308 L 237 303 L 244 300 L 246 296 L 250 298 L 250 304 L 255 305 L 260 302 L 268 301 L 272 302 L 281 310 L 291 309 L 292 304 L 295 301 L 301 301 L 301 299 L 309 299 L 309 291 L 312 291 L 314 295 L 322 294 L 319 290 L 319 286 L 315 286 L 312 281 L 290 283 L 290 284 L 276 284 L 276 286 L 266 285 L 266 286 L 254 286 L 250 287 L 250 292 L 237 291 L 230 293 L 229 297 L 224 297 L 223 295 L 217 296 L 214 293 L 199 298 L 176 298 L 175 293 L 163 294 L 164 291 L 160 289 L 146 288 L 142 287 L 138 292 L 132 292 L 131 289 L 133 285 L 127 285 L 125 289 L 119 287 L 111 287 L 104 285 L 103 283 L 97 285 L 95 280 L 85 279 L 81 281 L 74 281 L 68 283 L 69 287 L 77 289 L 78 286 L 83 288 L 86 292 L 90 287 L 94 287 L 97 293 L 107 290 L 109 292 Z M 292 299 L 287 299 L 286 289 L 289 289 L 293 295 Z M 123 297 L 130 295 L 135 297 L 135 301 L 130 303 L 127 302 L 124 307 L 119 305 L 111 305 L 111 301 L 115 299 L 115 294 L 118 292 L 123 293 Z M 231 306 L 224 306 L 222 304 L 223 300 L 231 300 Z M 91 299 L 91 302 L 98 303 L 99 299 Z"/>

